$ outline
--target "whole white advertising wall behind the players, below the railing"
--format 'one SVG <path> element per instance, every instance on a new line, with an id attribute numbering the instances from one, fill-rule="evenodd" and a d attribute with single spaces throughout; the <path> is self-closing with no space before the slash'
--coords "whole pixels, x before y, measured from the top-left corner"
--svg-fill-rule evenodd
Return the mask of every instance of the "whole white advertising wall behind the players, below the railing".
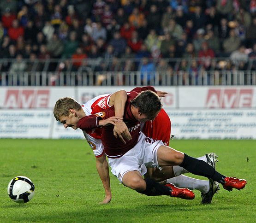
<path id="1" fill-rule="evenodd" d="M 120 87 L 1 87 L 0 138 L 83 138 L 64 129 L 53 107 L 60 97 L 81 104 Z M 156 87 L 172 122 L 172 135 L 184 139 L 256 139 L 256 87 Z"/>

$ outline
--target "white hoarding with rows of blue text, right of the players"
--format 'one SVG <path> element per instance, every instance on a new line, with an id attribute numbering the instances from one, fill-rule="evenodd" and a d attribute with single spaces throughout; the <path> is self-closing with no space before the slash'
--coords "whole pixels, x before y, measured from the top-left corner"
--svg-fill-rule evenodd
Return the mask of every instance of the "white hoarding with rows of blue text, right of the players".
<path id="1" fill-rule="evenodd" d="M 253 109 L 167 110 L 172 135 L 183 139 L 256 139 Z"/>

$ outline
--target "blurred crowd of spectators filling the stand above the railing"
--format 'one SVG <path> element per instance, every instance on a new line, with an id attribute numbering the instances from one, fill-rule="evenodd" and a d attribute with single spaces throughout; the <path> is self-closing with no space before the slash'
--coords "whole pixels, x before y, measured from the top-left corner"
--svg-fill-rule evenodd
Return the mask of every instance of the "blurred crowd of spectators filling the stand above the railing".
<path id="1" fill-rule="evenodd" d="M 247 70 L 255 57 L 256 0 L 0 0 L 0 59 L 16 59 L 1 71 Z"/>

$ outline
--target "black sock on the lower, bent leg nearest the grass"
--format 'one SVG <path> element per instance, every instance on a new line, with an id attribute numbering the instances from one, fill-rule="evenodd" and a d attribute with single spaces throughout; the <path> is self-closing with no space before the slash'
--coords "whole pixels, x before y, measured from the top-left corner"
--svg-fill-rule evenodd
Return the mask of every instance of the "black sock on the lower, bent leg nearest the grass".
<path id="1" fill-rule="evenodd" d="M 141 194 L 146 194 L 147 196 L 160 196 L 160 195 L 168 195 L 171 196 L 172 189 L 168 188 L 164 185 L 161 185 L 160 183 L 155 182 L 152 179 L 145 179 L 145 182 L 147 184 L 146 190 L 139 192 Z"/>

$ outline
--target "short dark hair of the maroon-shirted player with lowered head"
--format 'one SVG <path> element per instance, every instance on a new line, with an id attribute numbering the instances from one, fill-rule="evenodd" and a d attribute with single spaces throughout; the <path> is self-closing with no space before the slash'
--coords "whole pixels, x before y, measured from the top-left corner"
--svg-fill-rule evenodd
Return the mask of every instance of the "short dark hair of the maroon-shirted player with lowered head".
<path id="1" fill-rule="evenodd" d="M 136 96 L 135 99 L 131 100 L 131 105 L 137 107 L 139 112 L 148 117 L 155 114 L 155 112 L 160 111 L 162 108 L 162 103 L 160 98 L 153 91 L 142 91 Z"/>

